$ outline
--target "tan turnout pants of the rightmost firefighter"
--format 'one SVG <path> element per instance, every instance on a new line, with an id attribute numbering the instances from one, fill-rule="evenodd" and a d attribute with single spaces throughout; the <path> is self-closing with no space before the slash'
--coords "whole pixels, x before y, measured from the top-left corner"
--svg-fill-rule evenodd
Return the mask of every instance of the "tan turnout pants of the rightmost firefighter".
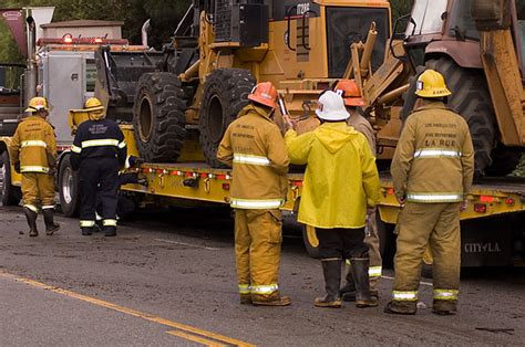
<path id="1" fill-rule="evenodd" d="M 408 202 L 400 212 L 394 257 L 394 304 L 415 307 L 423 253 L 434 255 L 434 309 L 455 309 L 460 288 L 460 203 Z"/>

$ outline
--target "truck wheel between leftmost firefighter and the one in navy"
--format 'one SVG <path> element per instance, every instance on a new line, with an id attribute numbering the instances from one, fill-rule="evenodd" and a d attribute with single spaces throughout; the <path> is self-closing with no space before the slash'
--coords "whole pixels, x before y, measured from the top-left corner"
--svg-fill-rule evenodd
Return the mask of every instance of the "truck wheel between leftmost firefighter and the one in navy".
<path id="1" fill-rule="evenodd" d="M 70 156 L 61 160 L 59 169 L 60 208 L 65 217 L 79 215 L 79 172 L 73 171 Z"/>

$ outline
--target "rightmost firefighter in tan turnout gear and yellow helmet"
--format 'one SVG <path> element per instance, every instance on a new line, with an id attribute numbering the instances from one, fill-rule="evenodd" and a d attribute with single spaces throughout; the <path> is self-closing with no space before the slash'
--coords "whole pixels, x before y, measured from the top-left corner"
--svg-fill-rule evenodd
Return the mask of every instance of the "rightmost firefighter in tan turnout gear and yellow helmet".
<path id="1" fill-rule="evenodd" d="M 455 314 L 460 290 L 460 209 L 472 186 L 474 149 L 466 122 L 444 106 L 443 76 L 418 78 L 415 112 L 404 124 L 391 165 L 400 211 L 395 280 L 385 313 L 415 314 L 423 253 L 433 256 L 433 313 Z"/>

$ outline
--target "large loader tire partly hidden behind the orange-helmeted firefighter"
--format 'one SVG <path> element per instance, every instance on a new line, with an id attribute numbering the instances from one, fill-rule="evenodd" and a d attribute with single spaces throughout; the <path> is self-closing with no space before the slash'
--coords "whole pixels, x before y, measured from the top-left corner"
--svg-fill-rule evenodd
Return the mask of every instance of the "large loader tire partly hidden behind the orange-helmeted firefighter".
<path id="1" fill-rule="evenodd" d="M 203 153 L 214 168 L 220 167 L 216 156 L 224 133 L 248 104 L 254 85 L 254 76 L 244 69 L 217 69 L 206 78 L 198 122 Z"/>

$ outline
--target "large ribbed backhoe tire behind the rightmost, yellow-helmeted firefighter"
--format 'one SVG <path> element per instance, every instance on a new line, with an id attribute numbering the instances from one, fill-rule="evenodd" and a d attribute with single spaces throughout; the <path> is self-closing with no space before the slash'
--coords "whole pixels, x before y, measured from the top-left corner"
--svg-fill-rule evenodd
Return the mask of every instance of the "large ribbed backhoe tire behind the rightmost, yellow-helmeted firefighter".
<path id="1" fill-rule="evenodd" d="M 471 129 L 472 141 L 475 149 L 475 176 L 485 175 L 485 169 L 492 165 L 491 154 L 496 144 L 496 119 L 491 103 L 491 95 L 483 72 L 474 69 L 464 69 L 452 59 L 442 56 L 429 60 L 426 69 L 440 72 L 445 78 L 452 95 L 449 96 L 447 107 L 465 118 Z M 415 96 L 415 77 L 412 77 L 409 91 L 404 97 L 401 112 L 403 119 L 412 112 Z"/>

